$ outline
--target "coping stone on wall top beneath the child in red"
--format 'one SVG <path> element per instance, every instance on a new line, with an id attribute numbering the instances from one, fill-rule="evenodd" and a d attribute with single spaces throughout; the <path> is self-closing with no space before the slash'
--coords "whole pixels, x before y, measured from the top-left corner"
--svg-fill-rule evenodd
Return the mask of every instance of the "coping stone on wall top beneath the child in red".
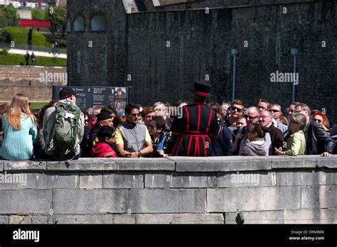
<path id="1" fill-rule="evenodd" d="M 112 158 L 80 158 L 80 160 L 47 161 L 47 170 L 62 171 L 102 171 L 116 170 L 116 159 Z"/>

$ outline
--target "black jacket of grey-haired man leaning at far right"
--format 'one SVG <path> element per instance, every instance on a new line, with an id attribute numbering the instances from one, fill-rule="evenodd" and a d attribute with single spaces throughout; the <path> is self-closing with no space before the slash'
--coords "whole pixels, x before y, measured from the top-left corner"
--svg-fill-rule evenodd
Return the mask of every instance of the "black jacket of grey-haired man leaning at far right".
<path id="1" fill-rule="evenodd" d="M 306 124 L 306 155 L 320 155 L 321 153 L 333 153 L 335 142 L 330 138 L 323 127 L 313 120 Z"/>

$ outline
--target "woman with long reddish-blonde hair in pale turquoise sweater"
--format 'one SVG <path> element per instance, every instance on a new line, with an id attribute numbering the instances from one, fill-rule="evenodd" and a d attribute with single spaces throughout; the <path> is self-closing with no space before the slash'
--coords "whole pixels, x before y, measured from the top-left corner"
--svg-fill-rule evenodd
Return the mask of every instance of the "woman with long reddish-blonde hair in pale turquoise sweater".
<path id="1" fill-rule="evenodd" d="M 37 141 L 37 121 L 31 113 L 28 97 L 16 94 L 2 116 L 4 142 L 0 156 L 5 160 L 33 158 L 33 144 Z"/>

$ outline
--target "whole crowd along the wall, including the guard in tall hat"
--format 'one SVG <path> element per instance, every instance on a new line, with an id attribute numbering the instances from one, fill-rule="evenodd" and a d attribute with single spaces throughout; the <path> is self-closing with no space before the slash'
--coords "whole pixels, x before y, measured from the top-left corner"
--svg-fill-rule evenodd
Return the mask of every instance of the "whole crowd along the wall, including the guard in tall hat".
<path id="1" fill-rule="evenodd" d="M 64 87 L 59 101 L 31 111 L 16 94 L 1 116 L 0 156 L 5 160 L 162 158 L 172 156 L 321 155 L 337 153 L 337 125 L 326 114 L 293 102 L 282 111 L 267 99 L 206 103 L 208 82 L 195 82 L 193 102 L 127 104 L 80 111 Z"/>

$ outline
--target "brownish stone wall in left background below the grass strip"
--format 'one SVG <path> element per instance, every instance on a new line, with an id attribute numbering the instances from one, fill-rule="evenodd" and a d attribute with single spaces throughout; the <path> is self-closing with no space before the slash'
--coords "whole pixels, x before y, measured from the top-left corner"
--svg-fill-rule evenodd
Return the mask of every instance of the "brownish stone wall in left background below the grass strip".
<path id="1" fill-rule="evenodd" d="M 0 101 L 11 101 L 14 94 L 26 94 L 30 101 L 53 99 L 53 85 L 66 82 L 41 82 L 40 74 L 67 72 L 65 67 L 0 66 Z"/>

